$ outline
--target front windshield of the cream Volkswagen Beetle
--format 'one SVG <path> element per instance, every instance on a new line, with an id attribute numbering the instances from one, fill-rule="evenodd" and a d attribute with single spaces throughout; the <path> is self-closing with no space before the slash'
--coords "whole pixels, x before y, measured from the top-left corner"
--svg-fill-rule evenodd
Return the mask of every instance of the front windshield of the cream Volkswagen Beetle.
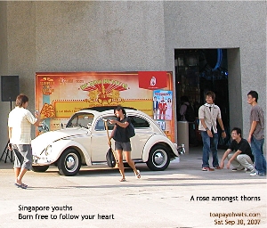
<path id="1" fill-rule="evenodd" d="M 92 126 L 93 114 L 92 113 L 77 113 L 72 118 L 69 119 L 69 123 L 66 127 L 88 127 Z"/>

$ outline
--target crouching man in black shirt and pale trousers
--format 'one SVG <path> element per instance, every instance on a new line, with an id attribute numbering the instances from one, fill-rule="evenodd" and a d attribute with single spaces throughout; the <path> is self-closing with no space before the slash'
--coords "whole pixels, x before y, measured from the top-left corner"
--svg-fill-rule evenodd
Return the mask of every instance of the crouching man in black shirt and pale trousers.
<path id="1" fill-rule="evenodd" d="M 239 127 L 234 127 L 231 130 L 231 138 L 231 145 L 229 149 L 224 152 L 220 167 L 224 167 L 224 160 L 227 158 L 228 163 L 226 167 L 228 169 L 230 165 L 232 165 L 232 171 L 247 169 L 247 172 L 255 172 L 253 167 L 254 156 L 252 155 L 249 143 L 246 139 L 242 138 L 241 129 Z M 231 153 L 231 151 L 235 152 Z"/>

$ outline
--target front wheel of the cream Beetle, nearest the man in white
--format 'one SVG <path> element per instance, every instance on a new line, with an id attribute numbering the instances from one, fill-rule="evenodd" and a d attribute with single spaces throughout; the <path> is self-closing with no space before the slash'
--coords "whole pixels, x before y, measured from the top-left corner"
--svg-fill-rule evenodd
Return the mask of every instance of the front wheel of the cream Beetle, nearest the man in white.
<path id="1" fill-rule="evenodd" d="M 61 175 L 77 175 L 81 167 L 81 156 L 74 149 L 68 149 L 61 154 L 58 168 Z"/>

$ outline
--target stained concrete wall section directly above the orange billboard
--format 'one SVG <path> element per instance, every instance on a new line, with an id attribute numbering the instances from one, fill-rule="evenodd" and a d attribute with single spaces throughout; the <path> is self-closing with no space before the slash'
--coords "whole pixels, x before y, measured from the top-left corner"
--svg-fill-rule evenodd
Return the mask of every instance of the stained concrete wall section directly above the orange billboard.
<path id="1" fill-rule="evenodd" d="M 163 12 L 153 1 L 36 3 L 36 67 L 165 69 Z"/>

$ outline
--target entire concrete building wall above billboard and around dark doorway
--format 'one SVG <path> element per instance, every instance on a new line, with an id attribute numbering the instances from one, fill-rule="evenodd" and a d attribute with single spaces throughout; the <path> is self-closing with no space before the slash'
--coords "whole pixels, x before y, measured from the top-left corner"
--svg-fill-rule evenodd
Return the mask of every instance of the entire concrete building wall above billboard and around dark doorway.
<path id="1" fill-rule="evenodd" d="M 266 107 L 265 15 L 263 1 L 0 2 L 0 72 L 20 76 L 33 111 L 37 71 L 174 70 L 175 48 L 228 48 L 231 126 L 247 133 L 247 92 Z"/>

